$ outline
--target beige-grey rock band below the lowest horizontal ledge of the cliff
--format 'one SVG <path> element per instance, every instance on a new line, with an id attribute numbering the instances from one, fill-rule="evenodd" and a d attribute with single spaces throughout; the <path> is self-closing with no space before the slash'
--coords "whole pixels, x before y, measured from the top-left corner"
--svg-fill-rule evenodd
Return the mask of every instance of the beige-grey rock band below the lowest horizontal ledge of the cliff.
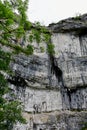
<path id="1" fill-rule="evenodd" d="M 81 130 L 87 121 L 87 112 L 55 111 L 41 114 L 24 114 L 28 125 L 15 126 L 14 130 Z"/>

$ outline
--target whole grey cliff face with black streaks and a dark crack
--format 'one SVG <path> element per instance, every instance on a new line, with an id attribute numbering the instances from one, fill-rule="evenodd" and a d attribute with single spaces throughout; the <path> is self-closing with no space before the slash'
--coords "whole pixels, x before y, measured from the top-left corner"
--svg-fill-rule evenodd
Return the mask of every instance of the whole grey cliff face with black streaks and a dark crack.
<path id="1" fill-rule="evenodd" d="M 49 29 L 54 57 L 35 51 L 15 55 L 10 64 L 15 76 L 8 81 L 27 119 L 14 130 L 81 130 L 87 122 L 87 15 Z"/>

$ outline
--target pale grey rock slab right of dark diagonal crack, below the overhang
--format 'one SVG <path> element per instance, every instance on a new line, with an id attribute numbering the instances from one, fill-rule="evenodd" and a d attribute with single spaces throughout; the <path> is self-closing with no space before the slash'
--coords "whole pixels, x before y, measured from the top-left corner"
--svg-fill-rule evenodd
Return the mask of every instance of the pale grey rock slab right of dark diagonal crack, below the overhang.
<path id="1" fill-rule="evenodd" d="M 87 36 L 53 34 L 55 57 L 63 71 L 66 87 L 75 88 L 87 84 Z"/>

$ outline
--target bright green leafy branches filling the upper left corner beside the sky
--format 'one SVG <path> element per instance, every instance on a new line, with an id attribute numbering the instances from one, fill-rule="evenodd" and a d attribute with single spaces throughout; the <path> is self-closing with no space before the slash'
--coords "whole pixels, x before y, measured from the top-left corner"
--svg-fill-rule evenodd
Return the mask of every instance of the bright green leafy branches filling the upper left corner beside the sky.
<path id="1" fill-rule="evenodd" d="M 18 45 L 21 40 L 26 41 L 27 28 L 32 26 L 27 20 L 27 8 L 28 0 L 0 0 L 0 44 L 10 46 L 15 53 L 31 54 L 31 46 L 23 49 Z"/>

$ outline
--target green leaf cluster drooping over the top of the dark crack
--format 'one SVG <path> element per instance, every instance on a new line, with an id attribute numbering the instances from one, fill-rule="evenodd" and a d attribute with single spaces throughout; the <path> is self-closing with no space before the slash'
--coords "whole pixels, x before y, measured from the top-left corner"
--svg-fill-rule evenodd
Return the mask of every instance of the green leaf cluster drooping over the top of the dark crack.
<path id="1" fill-rule="evenodd" d="M 51 32 L 46 27 L 41 26 L 39 22 L 35 24 L 34 29 L 32 29 L 29 35 L 29 41 L 33 42 L 33 40 L 36 40 L 37 43 L 40 43 L 41 41 L 46 42 L 48 54 L 55 54 L 55 46 L 51 43 Z M 42 47 L 40 47 L 40 49 L 42 52 L 44 52 Z"/>

